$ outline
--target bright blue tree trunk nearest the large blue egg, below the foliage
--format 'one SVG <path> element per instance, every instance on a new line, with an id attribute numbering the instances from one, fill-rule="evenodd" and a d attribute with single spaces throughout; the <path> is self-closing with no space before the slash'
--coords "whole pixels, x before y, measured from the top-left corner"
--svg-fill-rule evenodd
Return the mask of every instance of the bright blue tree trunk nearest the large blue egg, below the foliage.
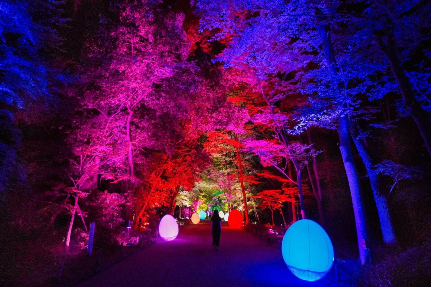
<path id="1" fill-rule="evenodd" d="M 350 146 L 350 132 L 347 115 L 339 117 L 338 136 L 340 138 L 340 152 L 349 181 L 350 194 L 352 197 L 353 213 L 356 222 L 356 236 L 358 237 L 359 258 L 361 264 L 371 262 L 369 252 L 366 248 L 368 231 L 365 219 L 364 204 L 362 202 L 361 187 L 358 173 L 353 159 L 352 147 Z"/>

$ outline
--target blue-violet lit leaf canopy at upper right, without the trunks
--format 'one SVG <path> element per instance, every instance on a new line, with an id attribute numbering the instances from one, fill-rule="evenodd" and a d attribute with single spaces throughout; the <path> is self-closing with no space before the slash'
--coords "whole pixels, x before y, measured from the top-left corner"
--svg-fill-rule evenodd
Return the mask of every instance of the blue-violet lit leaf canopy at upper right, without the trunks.
<path id="1" fill-rule="evenodd" d="M 285 92 L 310 97 L 309 105 L 298 109 L 297 126 L 291 131 L 297 133 L 313 125 L 334 128 L 344 113 L 369 119 L 359 97 L 373 101 L 399 90 L 377 35 L 393 33 L 397 47 L 391 48 L 402 55 L 402 63 L 409 61 L 429 39 L 424 33 L 430 26 L 429 6 L 422 7 L 423 2 L 387 1 L 379 6 L 365 0 L 362 9 L 345 10 L 345 1 L 340 0 L 200 0 L 197 9 L 202 16 L 200 31 L 216 29 L 214 39 L 228 44 L 219 55 L 225 67 L 247 66 L 264 80 L 276 72 L 295 71 L 297 84 Z M 325 17 L 316 16 L 316 11 Z M 321 24 L 330 26 L 337 73 L 322 50 Z M 423 63 L 430 50 L 420 53 L 424 61 L 406 73 L 417 100 L 428 111 L 431 74 Z M 304 69 L 310 64 L 315 68 Z M 400 103 L 399 110 L 406 115 Z"/>

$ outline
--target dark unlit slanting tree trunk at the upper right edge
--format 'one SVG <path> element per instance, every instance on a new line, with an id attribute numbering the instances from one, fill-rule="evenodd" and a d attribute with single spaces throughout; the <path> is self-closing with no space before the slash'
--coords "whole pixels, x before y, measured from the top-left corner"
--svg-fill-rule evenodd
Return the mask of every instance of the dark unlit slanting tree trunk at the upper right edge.
<path id="1" fill-rule="evenodd" d="M 409 114 L 418 126 L 428 154 L 431 156 L 431 116 L 422 108 L 415 97 L 412 83 L 407 77 L 406 72 L 401 66 L 400 59 L 397 56 L 396 44 L 392 33 L 386 37 L 386 41 L 384 41 L 382 37 L 378 37 L 378 43 L 389 61 L 390 69 L 397 80 L 404 106 L 406 106 L 407 111 L 409 111 Z"/>

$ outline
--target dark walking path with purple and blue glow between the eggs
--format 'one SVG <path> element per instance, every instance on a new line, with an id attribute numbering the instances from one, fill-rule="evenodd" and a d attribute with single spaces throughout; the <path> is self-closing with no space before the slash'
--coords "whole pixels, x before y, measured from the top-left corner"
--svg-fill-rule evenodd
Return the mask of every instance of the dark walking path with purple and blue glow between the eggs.
<path id="1" fill-rule="evenodd" d="M 278 248 L 225 224 L 217 253 L 209 223 L 190 225 L 175 240 L 159 241 L 80 286 L 338 286 L 331 273 L 317 282 L 296 278 Z"/>

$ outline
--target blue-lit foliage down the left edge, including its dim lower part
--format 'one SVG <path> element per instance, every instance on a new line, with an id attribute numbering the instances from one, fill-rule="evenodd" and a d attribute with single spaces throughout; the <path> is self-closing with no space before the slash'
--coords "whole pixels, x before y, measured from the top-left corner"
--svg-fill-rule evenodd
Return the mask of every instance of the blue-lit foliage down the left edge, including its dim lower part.
<path id="1" fill-rule="evenodd" d="M 0 190 L 11 178 L 24 178 L 16 153 L 20 144 L 16 108 L 49 97 L 48 71 L 37 55 L 36 26 L 26 3 L 0 1 Z"/>

